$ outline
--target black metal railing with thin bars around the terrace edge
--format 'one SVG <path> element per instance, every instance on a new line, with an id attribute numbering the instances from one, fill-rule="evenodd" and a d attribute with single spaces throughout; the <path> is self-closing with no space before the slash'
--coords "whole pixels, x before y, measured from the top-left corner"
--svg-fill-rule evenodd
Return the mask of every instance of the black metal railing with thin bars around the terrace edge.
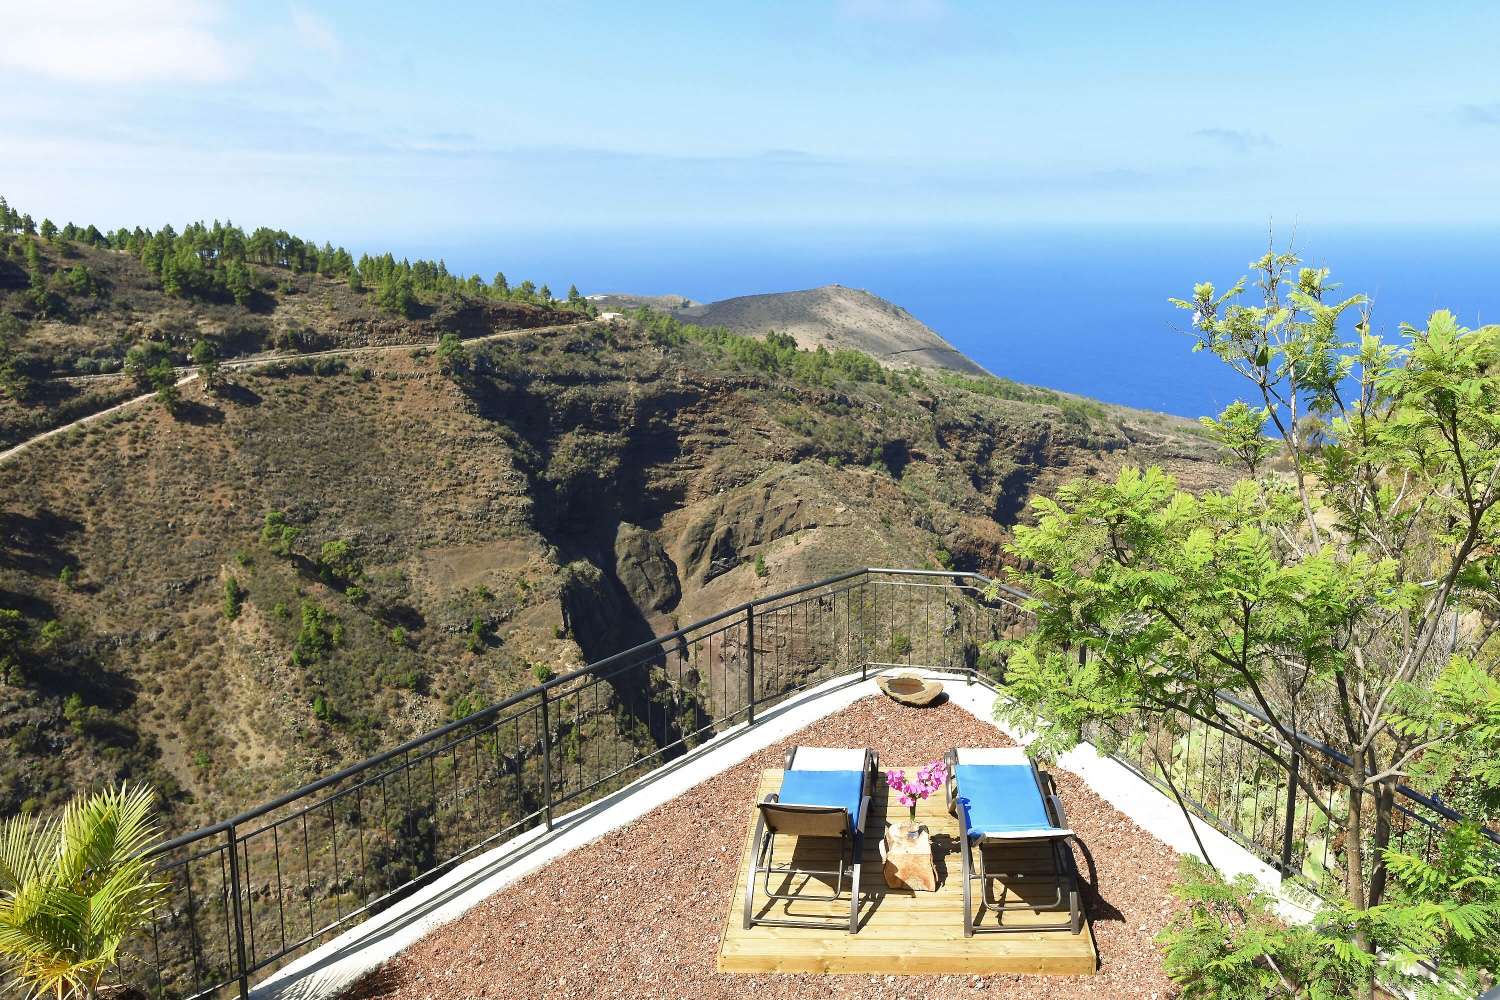
<path id="1" fill-rule="evenodd" d="M 462 861 L 550 829 L 562 810 L 825 681 L 920 667 L 994 687 L 1004 663 L 986 646 L 1024 633 L 1026 600 L 974 573 L 855 570 L 711 615 L 168 841 L 153 855 L 171 898 L 132 948 L 134 985 L 244 997 L 252 979 Z M 1113 741 L 1126 766 L 1282 871 L 1310 856 L 1317 786 L 1306 775 L 1294 780 L 1250 744 L 1226 745 L 1197 720 L 1138 726 L 1137 739 Z M 1330 751 L 1306 741 L 1299 753 Z M 1428 850 L 1460 819 L 1400 795 L 1406 832 L 1426 831 Z"/>

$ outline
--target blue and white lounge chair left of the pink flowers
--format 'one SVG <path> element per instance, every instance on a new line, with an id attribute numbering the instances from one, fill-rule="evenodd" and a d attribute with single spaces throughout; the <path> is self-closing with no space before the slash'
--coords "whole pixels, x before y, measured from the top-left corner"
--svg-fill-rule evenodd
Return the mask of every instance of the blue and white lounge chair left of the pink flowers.
<path id="1" fill-rule="evenodd" d="M 864 855 L 864 825 L 870 814 L 870 795 L 880 759 L 873 750 L 824 750 L 795 747 L 786 754 L 782 790 L 756 804 L 759 819 L 750 840 L 750 870 L 746 874 L 744 927 L 812 927 L 826 930 L 843 918 L 784 919 L 756 915 L 756 880 L 765 877 L 765 898 L 783 903 L 836 903 L 843 898 L 849 880 L 849 933 L 860 925 L 860 858 Z M 777 837 L 838 838 L 838 868 L 800 868 L 794 856 L 786 864 L 776 861 Z M 771 877 L 780 876 L 782 886 L 772 888 Z M 832 882 L 831 895 L 788 892 L 792 879 L 824 877 Z M 806 885 L 806 882 L 804 882 Z"/>

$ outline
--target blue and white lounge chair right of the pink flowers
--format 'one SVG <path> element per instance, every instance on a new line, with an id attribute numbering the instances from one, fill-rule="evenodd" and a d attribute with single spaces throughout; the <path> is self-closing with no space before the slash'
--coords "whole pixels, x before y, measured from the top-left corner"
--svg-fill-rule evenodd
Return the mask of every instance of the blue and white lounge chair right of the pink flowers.
<path id="1" fill-rule="evenodd" d="M 1004 934 L 1018 931 L 1060 931 L 1078 934 L 1083 910 L 1078 906 L 1078 870 L 1072 861 L 1068 817 L 1058 798 L 1052 775 L 1036 769 L 1035 762 L 1020 747 L 990 750 L 951 750 L 948 763 L 948 811 L 958 819 L 958 853 L 963 861 L 963 934 Z M 1036 876 L 1018 871 L 986 871 L 984 849 L 1017 844 L 1046 844 L 1052 850 L 1052 874 Z M 980 883 L 980 909 L 974 909 L 974 883 Z M 1016 886 L 1050 885 L 1050 901 L 1006 900 Z M 1005 913 L 1014 910 L 1062 910 L 1068 919 L 1054 924 L 1005 925 Z M 996 918 L 994 927 L 975 927 L 986 910 Z"/>

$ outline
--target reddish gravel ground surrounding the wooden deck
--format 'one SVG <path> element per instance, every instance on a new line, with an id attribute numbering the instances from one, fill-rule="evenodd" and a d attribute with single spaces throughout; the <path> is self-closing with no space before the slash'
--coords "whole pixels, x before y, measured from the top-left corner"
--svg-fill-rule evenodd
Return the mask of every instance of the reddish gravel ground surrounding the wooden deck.
<path id="1" fill-rule="evenodd" d="M 1098 870 L 1084 888 L 1101 966 L 1089 978 L 720 973 L 718 933 L 760 771 L 794 744 L 866 747 L 922 762 L 951 747 L 1010 742 L 954 705 L 868 697 L 764 750 L 495 894 L 356 984 L 345 1000 L 428 997 L 1172 997 L 1154 936 L 1178 904 L 1178 856 L 1054 769 Z M 642 846 L 650 844 L 650 850 Z M 1080 858 L 1080 871 L 1088 867 Z M 675 892 L 662 892 L 672 886 Z"/>

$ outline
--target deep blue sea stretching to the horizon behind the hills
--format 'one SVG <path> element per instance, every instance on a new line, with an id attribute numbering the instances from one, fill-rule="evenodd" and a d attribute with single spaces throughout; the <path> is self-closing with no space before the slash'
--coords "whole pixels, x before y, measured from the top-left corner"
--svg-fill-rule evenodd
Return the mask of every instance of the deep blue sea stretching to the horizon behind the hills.
<path id="1" fill-rule="evenodd" d="M 1278 246 L 1292 235 L 1278 228 Z M 402 247 L 488 280 L 546 282 L 561 295 L 627 291 L 699 301 L 840 283 L 906 307 L 996 375 L 1184 417 L 1214 414 L 1248 384 L 1192 354 L 1168 295 L 1227 288 L 1266 247 L 1252 226 L 1028 229 L 549 229 L 426 234 Z M 1341 294 L 1374 298 L 1389 337 L 1450 309 L 1500 322 L 1500 228 L 1300 226 L 1296 249 Z M 1352 322 L 1350 322 L 1352 325 Z"/>

